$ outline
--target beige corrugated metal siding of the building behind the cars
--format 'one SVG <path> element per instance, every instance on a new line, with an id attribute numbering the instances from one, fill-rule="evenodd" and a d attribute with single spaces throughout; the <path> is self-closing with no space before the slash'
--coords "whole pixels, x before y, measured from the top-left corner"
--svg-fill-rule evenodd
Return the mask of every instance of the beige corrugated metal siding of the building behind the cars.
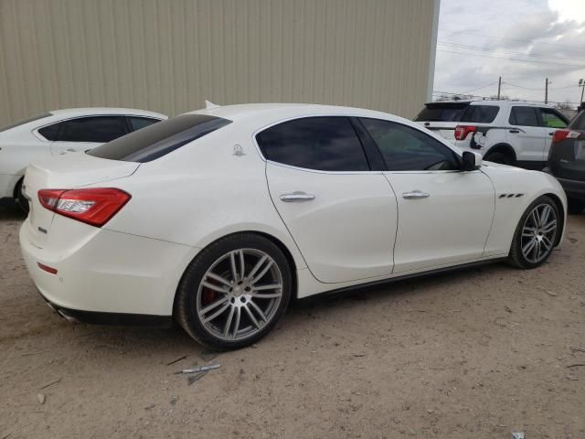
<path id="1" fill-rule="evenodd" d="M 58 108 L 427 95 L 434 0 L 0 0 L 0 125 Z M 434 48 L 433 48 L 434 49 Z"/>

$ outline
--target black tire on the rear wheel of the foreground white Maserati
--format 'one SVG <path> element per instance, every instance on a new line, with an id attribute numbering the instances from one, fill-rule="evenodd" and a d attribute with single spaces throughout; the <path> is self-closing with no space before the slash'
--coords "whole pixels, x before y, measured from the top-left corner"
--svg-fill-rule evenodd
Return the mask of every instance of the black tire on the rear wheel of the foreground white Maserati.
<path id="1" fill-rule="evenodd" d="M 218 306 L 218 308 L 223 308 L 227 304 L 228 305 L 227 310 L 224 311 L 222 314 L 220 314 L 216 318 L 225 318 L 225 320 L 221 324 L 221 327 L 227 326 L 228 327 L 228 334 L 229 334 L 229 332 L 231 332 L 231 326 L 234 327 L 234 329 L 233 329 L 234 334 L 232 334 L 231 336 L 229 335 L 229 337 L 236 337 L 235 334 L 237 334 L 237 332 L 239 330 L 239 325 L 241 324 L 240 317 L 237 317 L 238 319 L 236 320 L 235 323 L 230 323 L 230 322 L 232 322 L 232 316 L 233 316 L 233 313 L 231 310 L 232 310 L 232 308 L 237 308 L 238 306 L 240 306 L 240 307 L 237 310 L 236 314 L 238 314 L 238 316 L 242 316 L 241 317 L 242 319 L 243 318 L 247 319 L 248 323 L 250 324 L 249 327 L 251 327 L 252 330 L 257 331 L 254 334 L 250 334 L 250 337 L 239 336 L 240 339 L 227 340 L 225 338 L 222 338 L 221 336 L 217 336 L 217 335 L 213 334 L 211 329 L 206 327 L 204 322 L 202 322 L 202 318 L 199 316 L 199 312 L 202 312 L 202 309 L 197 308 L 197 305 L 207 307 L 209 303 L 211 305 L 215 305 L 216 303 L 221 302 L 221 300 L 217 300 L 216 298 L 212 298 L 209 300 L 209 302 L 207 304 L 204 304 L 203 300 L 204 300 L 205 295 L 203 295 L 203 294 L 208 294 L 209 291 L 214 291 L 214 290 L 207 289 L 207 292 L 206 292 L 207 287 L 205 287 L 201 283 L 204 281 L 204 276 L 206 276 L 206 273 L 208 270 L 212 270 L 212 269 L 216 270 L 217 267 L 221 266 L 221 265 L 215 265 L 218 263 L 218 261 L 220 261 L 220 260 L 222 260 L 222 258 L 226 257 L 226 255 L 229 252 L 240 251 L 240 250 L 243 250 L 244 252 L 258 252 L 260 254 L 266 254 L 271 258 L 271 260 L 273 262 L 273 264 L 271 265 L 271 267 L 273 267 L 273 268 L 271 268 L 271 271 L 278 270 L 278 272 L 275 272 L 275 273 L 280 274 L 281 279 L 282 279 L 282 288 L 277 290 L 278 292 L 281 293 L 280 298 L 278 299 L 278 300 L 280 300 L 280 302 L 272 304 L 272 307 L 270 310 L 271 316 L 270 316 L 270 319 L 268 321 L 262 322 L 261 319 L 258 319 L 258 321 L 261 322 L 261 325 L 253 326 L 252 320 L 250 320 L 250 317 L 247 315 L 247 313 L 249 314 L 250 310 L 252 310 L 252 305 L 253 305 L 251 303 L 252 300 L 250 299 L 250 297 L 248 297 L 249 303 L 247 303 L 246 305 L 241 305 L 238 302 L 238 298 L 241 299 L 241 302 L 245 301 L 245 298 L 243 297 L 245 295 L 244 290 L 243 289 L 239 290 L 241 293 L 238 293 L 238 294 L 241 294 L 241 296 L 236 297 L 235 302 L 234 302 L 233 294 L 237 294 L 237 293 L 235 291 L 232 293 L 232 290 L 235 290 L 235 288 L 229 288 L 229 286 L 223 286 L 223 284 L 216 284 L 216 286 L 219 286 L 222 289 L 229 288 L 229 292 L 226 291 L 226 292 L 219 293 L 219 294 L 218 293 L 211 293 L 211 294 L 215 294 L 215 296 L 216 297 L 218 296 L 220 299 L 224 298 L 224 296 L 221 294 L 226 294 L 225 297 L 228 297 L 228 299 L 226 299 L 227 301 L 224 302 L 224 305 Z M 252 256 L 249 256 L 249 258 L 250 257 L 253 258 L 253 254 L 252 254 Z M 259 258 L 261 259 L 260 256 L 259 256 Z M 220 263 L 228 263 L 227 262 L 228 260 L 224 260 L 224 261 L 226 261 L 226 262 L 220 262 Z M 254 263 L 254 262 L 252 262 L 252 263 Z M 246 266 L 246 263 L 244 263 L 244 265 Z M 250 267 L 250 266 L 251 265 L 248 265 L 248 267 Z M 248 272 L 248 274 L 250 274 L 250 279 L 253 280 L 254 277 L 258 276 L 258 272 L 256 272 L 256 274 L 254 274 L 254 273 L 251 273 L 252 271 L 253 271 L 253 269 L 250 270 L 249 268 L 242 269 L 242 272 L 243 273 Z M 259 270 L 259 272 L 261 272 L 261 271 L 262 270 Z M 229 276 L 229 273 L 226 275 L 226 279 L 228 279 L 228 276 Z M 241 278 L 247 279 L 247 277 L 245 277 L 243 274 L 242 274 Z M 209 279 L 210 279 L 209 277 L 206 278 L 206 284 L 209 284 Z M 260 280 L 261 279 L 259 278 L 258 281 L 260 281 Z M 252 281 L 250 281 L 250 282 L 252 282 Z M 253 282 L 256 282 L 256 281 L 253 281 Z M 233 284 L 233 286 L 235 286 L 235 284 Z M 242 288 L 243 288 L 243 285 L 242 285 Z M 254 286 L 252 286 L 252 288 L 254 288 Z M 292 288 L 293 288 L 293 282 L 292 282 L 291 268 L 289 266 L 289 263 L 288 263 L 286 257 L 282 253 L 281 249 L 278 248 L 278 246 L 276 246 L 272 241 L 268 240 L 267 238 L 261 237 L 260 235 L 256 235 L 254 233 L 242 233 L 242 234 L 230 235 L 230 236 L 227 236 L 221 240 L 215 241 L 212 244 L 208 245 L 207 248 L 205 248 L 199 254 L 197 254 L 197 257 L 189 264 L 189 266 L 186 269 L 186 272 L 183 274 L 183 278 L 181 279 L 181 282 L 180 282 L 178 289 L 177 289 L 174 314 L 175 314 L 176 321 L 178 322 L 178 324 L 181 327 L 183 327 L 186 330 L 186 333 L 189 336 L 195 338 L 200 344 L 207 346 L 208 348 L 212 348 L 212 349 L 216 349 L 216 350 L 229 350 L 229 349 L 245 348 L 245 347 L 250 346 L 251 344 L 257 342 L 258 340 L 260 340 L 261 337 L 266 336 L 266 334 L 268 334 L 271 331 L 271 329 L 276 325 L 278 320 L 284 314 L 284 311 L 286 310 L 287 306 L 289 305 L 289 302 L 291 300 L 291 295 L 292 295 Z M 252 290 L 252 292 L 250 294 L 254 294 L 254 291 Z M 258 293 L 256 293 L 256 294 L 258 294 Z M 256 299 L 254 298 L 254 300 L 256 300 Z M 262 300 L 271 300 L 271 299 L 259 298 L 258 301 L 256 301 L 257 304 L 254 304 L 254 305 L 260 304 L 260 306 L 262 306 L 261 305 Z M 273 299 L 273 300 L 276 301 L 277 299 Z M 238 303 L 236 304 L 236 302 L 238 302 Z M 229 305 L 229 304 L 235 304 L 235 305 Z M 204 305 L 206 305 L 206 306 L 204 306 Z M 249 309 L 244 310 L 243 309 L 244 307 L 247 307 Z M 244 312 L 244 311 L 246 311 L 246 312 Z M 215 313 L 215 310 L 210 311 L 209 313 L 210 314 Z M 229 316 L 226 316 L 226 313 Z M 269 314 L 269 313 L 267 313 L 267 314 Z M 255 314 L 255 313 L 254 313 L 254 315 L 256 317 L 259 316 L 258 314 Z M 207 323 L 207 326 L 208 325 L 209 325 L 209 323 Z M 212 323 L 210 325 L 211 326 L 214 325 L 213 320 L 212 320 Z M 219 329 L 219 327 L 217 329 Z M 241 338 L 241 337 L 244 337 L 244 338 Z"/>

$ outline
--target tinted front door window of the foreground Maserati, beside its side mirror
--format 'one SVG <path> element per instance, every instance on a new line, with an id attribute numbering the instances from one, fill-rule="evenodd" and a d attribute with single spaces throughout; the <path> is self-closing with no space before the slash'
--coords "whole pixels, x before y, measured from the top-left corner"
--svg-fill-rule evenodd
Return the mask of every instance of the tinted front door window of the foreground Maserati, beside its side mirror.
<path id="1" fill-rule="evenodd" d="M 372 136 L 388 171 L 454 170 L 455 154 L 447 146 L 410 126 L 360 119 Z"/>

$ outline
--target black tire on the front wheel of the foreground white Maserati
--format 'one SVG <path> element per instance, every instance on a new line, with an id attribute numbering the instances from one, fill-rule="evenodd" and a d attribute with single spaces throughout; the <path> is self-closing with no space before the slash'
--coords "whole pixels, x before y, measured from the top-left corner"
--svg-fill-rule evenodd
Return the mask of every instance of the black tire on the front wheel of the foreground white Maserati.
<path id="1" fill-rule="evenodd" d="M 545 252 L 542 252 L 542 255 L 535 262 L 535 261 L 528 260 L 527 256 L 523 252 L 522 233 L 523 233 L 523 230 L 525 228 L 525 225 L 527 224 L 528 216 L 531 214 L 533 209 L 540 207 L 541 205 L 548 205 L 552 209 L 552 212 L 554 212 L 555 219 L 557 221 L 557 226 L 555 229 L 554 236 L 548 236 L 548 240 L 551 241 L 550 248 L 545 249 Z M 516 232 L 514 233 L 514 238 L 512 240 L 512 246 L 510 247 L 510 253 L 508 255 L 508 263 L 510 263 L 511 265 L 514 265 L 518 268 L 532 269 L 532 268 L 539 267 L 544 262 L 547 262 L 548 257 L 552 253 L 555 245 L 557 245 L 558 233 L 561 232 L 561 229 L 560 229 L 561 228 L 561 221 L 562 221 L 562 217 L 561 217 L 560 213 L 558 212 L 557 204 L 551 198 L 549 198 L 547 196 L 543 196 L 543 197 L 539 197 L 539 198 L 535 199 L 532 203 L 530 203 L 530 206 L 528 206 L 528 208 L 526 209 L 526 211 L 522 215 L 522 218 L 520 218 L 520 221 L 518 221 L 518 225 L 516 226 Z M 537 232 L 535 231 L 535 236 L 536 236 L 536 234 L 537 234 Z M 526 240 L 526 238 L 525 238 L 525 240 Z M 525 246 L 526 246 L 526 243 L 525 243 Z"/>

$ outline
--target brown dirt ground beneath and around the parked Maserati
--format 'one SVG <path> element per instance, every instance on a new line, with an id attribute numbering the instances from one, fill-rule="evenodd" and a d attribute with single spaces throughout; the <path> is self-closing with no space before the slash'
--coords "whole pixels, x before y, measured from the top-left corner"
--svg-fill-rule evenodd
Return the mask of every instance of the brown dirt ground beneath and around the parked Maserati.
<path id="1" fill-rule="evenodd" d="M 300 302 L 213 359 L 176 328 L 59 318 L 28 278 L 22 220 L 0 207 L 0 439 L 585 437 L 585 215 L 537 270 Z"/>

